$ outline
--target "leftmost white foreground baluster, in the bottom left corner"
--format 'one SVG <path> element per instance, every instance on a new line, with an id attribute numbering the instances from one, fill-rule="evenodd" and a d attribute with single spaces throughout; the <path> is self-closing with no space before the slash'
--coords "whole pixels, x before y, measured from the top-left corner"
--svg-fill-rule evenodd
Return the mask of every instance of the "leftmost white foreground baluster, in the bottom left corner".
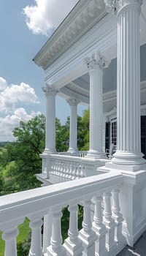
<path id="1" fill-rule="evenodd" d="M 17 256 L 16 238 L 18 236 L 18 225 L 22 224 L 24 219 L 8 222 L 2 225 L 2 239 L 5 241 L 4 256 Z"/>

